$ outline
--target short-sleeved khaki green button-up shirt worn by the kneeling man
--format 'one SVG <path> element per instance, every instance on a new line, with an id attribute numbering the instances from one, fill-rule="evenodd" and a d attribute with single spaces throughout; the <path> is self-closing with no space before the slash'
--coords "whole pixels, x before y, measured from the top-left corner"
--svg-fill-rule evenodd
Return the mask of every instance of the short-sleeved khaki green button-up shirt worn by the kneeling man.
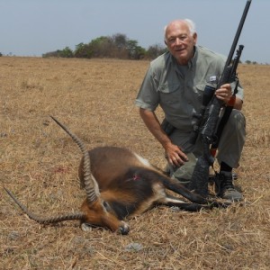
<path id="1" fill-rule="evenodd" d="M 202 106 L 205 85 L 216 87 L 225 62 L 220 54 L 200 46 L 195 46 L 187 66 L 178 65 L 166 52 L 150 63 L 135 104 L 149 111 L 160 105 L 166 120 L 181 133 L 189 134 L 193 130 L 193 112 L 199 112 Z M 239 86 L 237 95 L 243 100 Z"/>

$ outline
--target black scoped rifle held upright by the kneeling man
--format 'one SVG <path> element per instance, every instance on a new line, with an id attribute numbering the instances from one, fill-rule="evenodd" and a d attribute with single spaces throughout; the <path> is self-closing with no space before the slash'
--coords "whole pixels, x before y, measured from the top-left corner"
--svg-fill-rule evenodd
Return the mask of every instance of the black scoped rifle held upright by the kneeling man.
<path id="1" fill-rule="evenodd" d="M 220 129 L 217 129 L 220 118 L 220 110 L 223 107 L 224 102 L 218 99 L 213 93 L 216 89 L 219 89 L 221 85 L 229 84 L 232 82 L 236 82 L 236 88 L 234 89 L 233 95 L 235 95 L 237 92 L 237 67 L 241 52 L 244 49 L 243 45 L 239 45 L 236 57 L 234 59 L 232 58 L 247 17 L 247 12 L 250 4 L 251 0 L 247 0 L 247 4 L 238 25 L 238 30 L 229 50 L 229 56 L 225 63 L 217 87 L 210 85 L 205 86 L 200 112 L 193 115 L 195 122 L 193 125 L 193 133 L 191 135 L 190 142 L 195 144 L 197 138 L 199 135 L 201 135 L 200 139 L 202 139 L 203 151 L 202 156 L 198 158 L 196 166 L 194 167 L 189 189 L 194 190 L 195 193 L 199 193 L 202 196 L 208 195 L 209 167 L 213 166 L 214 162 L 214 157 L 211 155 L 211 146 L 212 148 L 218 147 L 219 139 L 217 139 L 217 136 L 220 138 L 223 127 L 226 124 L 226 121 L 229 119 L 229 114 L 233 108 L 233 104 L 228 106 L 228 109 L 226 109 L 227 111 L 225 110 L 224 113 L 225 118 L 221 119 L 220 121 Z"/>

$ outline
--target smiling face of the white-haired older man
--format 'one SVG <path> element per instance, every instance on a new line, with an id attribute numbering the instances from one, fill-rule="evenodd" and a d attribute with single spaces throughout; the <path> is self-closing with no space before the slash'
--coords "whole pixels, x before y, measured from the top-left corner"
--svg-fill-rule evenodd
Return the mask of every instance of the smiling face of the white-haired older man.
<path id="1" fill-rule="evenodd" d="M 175 21 L 166 27 L 166 46 L 180 65 L 187 65 L 193 58 L 193 47 L 197 41 L 197 34 L 191 34 L 183 21 Z"/>

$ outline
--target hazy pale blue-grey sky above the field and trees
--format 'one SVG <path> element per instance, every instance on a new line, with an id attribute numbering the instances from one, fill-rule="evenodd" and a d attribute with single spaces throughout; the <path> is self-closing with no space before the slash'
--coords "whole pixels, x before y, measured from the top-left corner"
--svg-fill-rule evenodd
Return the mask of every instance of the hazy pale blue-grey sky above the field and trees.
<path id="1" fill-rule="evenodd" d="M 228 55 L 247 0 L 0 0 L 0 52 L 36 56 L 125 34 L 139 46 L 164 44 L 164 27 L 192 19 L 198 44 Z M 241 60 L 270 64 L 270 0 L 253 0 L 238 44 Z"/>

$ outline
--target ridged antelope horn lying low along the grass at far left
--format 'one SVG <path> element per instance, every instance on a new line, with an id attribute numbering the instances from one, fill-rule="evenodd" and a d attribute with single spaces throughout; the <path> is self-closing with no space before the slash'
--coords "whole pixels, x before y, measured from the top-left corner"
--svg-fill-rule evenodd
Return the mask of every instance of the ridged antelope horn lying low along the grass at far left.
<path id="1" fill-rule="evenodd" d="M 85 214 L 83 212 L 74 212 L 74 213 L 67 213 L 67 214 L 59 215 L 57 217 L 41 218 L 41 217 L 31 213 L 31 211 L 29 211 L 26 208 L 26 206 L 23 205 L 22 202 L 19 202 L 16 199 L 16 197 L 14 196 L 14 193 L 9 191 L 5 187 L 4 187 L 4 190 L 6 191 L 6 193 L 8 193 L 13 198 L 14 202 L 16 202 L 16 204 L 27 214 L 27 216 L 31 220 L 35 220 L 36 222 L 38 222 L 40 224 L 57 223 L 57 222 L 60 222 L 60 221 L 65 221 L 65 220 L 82 220 L 85 217 Z"/>

